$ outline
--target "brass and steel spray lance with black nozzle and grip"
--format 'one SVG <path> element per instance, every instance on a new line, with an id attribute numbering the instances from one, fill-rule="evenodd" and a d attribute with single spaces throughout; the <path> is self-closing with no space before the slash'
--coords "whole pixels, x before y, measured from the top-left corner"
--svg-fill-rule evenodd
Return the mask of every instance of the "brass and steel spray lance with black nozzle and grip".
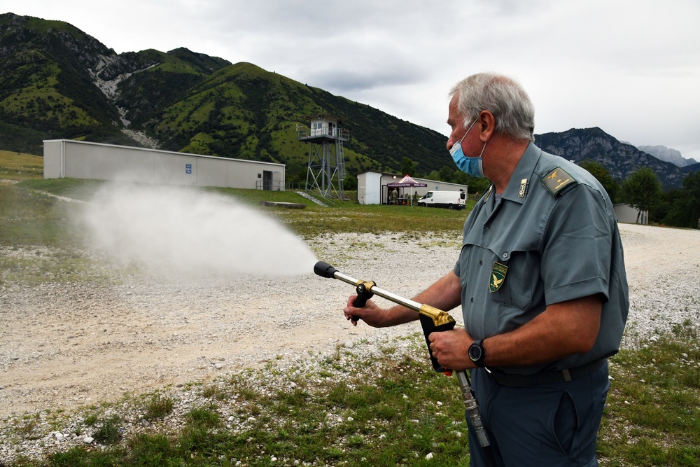
<path id="1" fill-rule="evenodd" d="M 454 328 L 455 321 L 454 318 L 449 315 L 449 313 L 443 312 L 441 309 L 431 307 L 430 305 L 409 300 L 401 297 L 400 295 L 396 295 L 395 293 L 385 291 L 384 289 L 377 287 L 377 284 L 375 284 L 374 281 L 361 281 L 346 274 L 342 274 L 342 272 L 339 272 L 337 269 L 335 269 L 335 267 L 332 267 L 323 261 L 318 261 L 318 263 L 314 265 L 314 272 L 321 277 L 338 279 L 346 282 L 347 284 L 355 286 L 357 298 L 355 298 L 355 301 L 353 302 L 353 307 L 363 308 L 367 304 L 367 300 L 372 298 L 374 295 L 378 295 L 379 297 L 386 298 L 386 300 L 390 300 L 391 302 L 418 312 L 421 320 L 421 326 L 423 327 L 423 335 L 425 335 L 426 344 L 428 345 L 430 361 L 433 363 L 433 370 L 444 373 L 444 375 L 447 376 L 452 375 L 452 370 L 444 368 L 437 362 L 437 358 L 433 356 L 433 349 L 430 349 L 430 340 L 428 340 L 430 333 L 440 333 L 442 331 L 451 330 Z M 353 321 L 357 322 L 357 319 L 353 319 Z M 495 466 L 496 463 L 493 459 L 493 452 L 491 451 L 491 442 L 489 441 L 488 433 L 486 433 L 486 428 L 482 423 L 481 414 L 479 413 L 479 404 L 477 403 L 477 398 L 474 390 L 472 389 L 469 375 L 465 370 L 463 370 L 456 372 L 456 377 L 459 388 L 462 391 L 462 400 L 469 414 L 472 428 L 474 428 L 474 432 L 477 435 L 479 445 L 481 445 L 482 449 L 484 450 L 486 463 L 489 466 Z"/>

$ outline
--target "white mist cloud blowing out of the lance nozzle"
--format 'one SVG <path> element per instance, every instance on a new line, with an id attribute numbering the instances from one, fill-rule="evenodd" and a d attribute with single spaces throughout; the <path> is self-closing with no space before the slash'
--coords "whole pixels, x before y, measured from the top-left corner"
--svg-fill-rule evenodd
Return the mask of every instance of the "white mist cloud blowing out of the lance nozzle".
<path id="1" fill-rule="evenodd" d="M 108 184 L 78 220 L 116 263 L 176 274 L 308 274 L 316 257 L 272 218 L 189 188 Z"/>

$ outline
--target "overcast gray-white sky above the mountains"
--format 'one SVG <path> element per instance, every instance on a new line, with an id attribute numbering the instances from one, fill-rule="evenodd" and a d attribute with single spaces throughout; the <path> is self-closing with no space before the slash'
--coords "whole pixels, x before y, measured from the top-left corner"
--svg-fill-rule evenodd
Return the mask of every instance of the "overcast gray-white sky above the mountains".
<path id="1" fill-rule="evenodd" d="M 601 127 L 700 161 L 698 0 L 0 0 L 117 53 L 185 47 L 251 62 L 449 134 L 478 71 L 524 85 L 535 133 Z"/>

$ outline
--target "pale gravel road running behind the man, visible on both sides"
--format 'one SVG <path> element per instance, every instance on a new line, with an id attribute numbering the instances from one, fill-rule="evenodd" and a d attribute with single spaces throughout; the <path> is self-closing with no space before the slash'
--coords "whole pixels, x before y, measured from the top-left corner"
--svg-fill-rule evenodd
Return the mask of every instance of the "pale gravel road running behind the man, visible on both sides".
<path id="1" fill-rule="evenodd" d="M 624 345 L 673 323 L 699 325 L 700 231 L 620 229 L 631 299 Z M 339 271 L 411 297 L 451 268 L 460 240 L 339 234 L 309 244 Z M 70 412 L 269 362 L 284 367 L 339 344 L 371 353 L 386 337 L 416 331 L 351 326 L 341 309 L 353 288 L 312 272 L 200 282 L 131 274 L 115 284 L 0 287 L 0 463 L 40 452 L 47 437 L 60 444 L 48 424 L 38 440 L 21 440 L 10 426 L 22 414 Z"/>

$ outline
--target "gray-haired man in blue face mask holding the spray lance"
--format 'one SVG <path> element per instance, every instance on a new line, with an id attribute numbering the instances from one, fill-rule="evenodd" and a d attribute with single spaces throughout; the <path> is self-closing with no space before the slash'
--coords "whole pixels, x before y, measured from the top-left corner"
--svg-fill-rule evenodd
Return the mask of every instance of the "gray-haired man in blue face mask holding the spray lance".
<path id="1" fill-rule="evenodd" d="M 447 148 L 491 186 L 465 221 L 453 270 L 415 298 L 462 307 L 465 328 L 431 334 L 433 356 L 472 370 L 496 465 L 596 466 L 607 358 L 629 308 L 610 198 L 584 169 L 535 146 L 533 106 L 516 81 L 477 74 L 450 94 Z M 353 300 L 346 318 L 370 326 L 417 318 Z M 485 463 L 471 426 L 470 459 Z"/>

